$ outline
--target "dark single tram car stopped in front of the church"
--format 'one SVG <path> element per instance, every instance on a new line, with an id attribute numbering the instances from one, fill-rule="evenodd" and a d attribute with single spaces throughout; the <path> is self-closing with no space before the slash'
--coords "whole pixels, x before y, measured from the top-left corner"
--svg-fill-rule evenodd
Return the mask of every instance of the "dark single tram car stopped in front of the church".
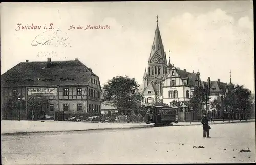
<path id="1" fill-rule="evenodd" d="M 155 123 L 155 126 L 172 126 L 172 122 L 178 124 L 178 107 L 168 105 L 146 106 L 146 123 Z"/>

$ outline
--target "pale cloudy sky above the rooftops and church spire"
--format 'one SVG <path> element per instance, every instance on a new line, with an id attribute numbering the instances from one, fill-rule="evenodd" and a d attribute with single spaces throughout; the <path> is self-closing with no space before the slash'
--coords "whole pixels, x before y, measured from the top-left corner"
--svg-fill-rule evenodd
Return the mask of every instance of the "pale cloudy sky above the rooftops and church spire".
<path id="1" fill-rule="evenodd" d="M 210 77 L 229 83 L 231 70 L 232 83 L 254 93 L 252 1 L 23 2 L 1 3 L 0 12 L 1 74 L 27 59 L 78 58 L 99 76 L 101 85 L 117 75 L 142 84 L 158 15 L 172 64 L 188 72 L 199 70 L 203 81 Z M 49 33 L 43 27 L 50 23 L 68 38 L 66 46 L 32 46 L 43 32 Z M 41 29 L 17 30 L 18 24 Z M 110 28 L 86 29 L 88 25 Z"/>

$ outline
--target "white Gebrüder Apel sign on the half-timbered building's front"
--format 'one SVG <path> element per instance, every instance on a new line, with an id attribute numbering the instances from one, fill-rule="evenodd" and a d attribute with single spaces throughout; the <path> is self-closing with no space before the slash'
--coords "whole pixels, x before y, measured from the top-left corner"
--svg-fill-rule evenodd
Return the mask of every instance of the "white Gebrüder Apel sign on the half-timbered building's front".
<path id="1" fill-rule="evenodd" d="M 28 88 L 28 96 L 57 96 L 57 88 Z"/>

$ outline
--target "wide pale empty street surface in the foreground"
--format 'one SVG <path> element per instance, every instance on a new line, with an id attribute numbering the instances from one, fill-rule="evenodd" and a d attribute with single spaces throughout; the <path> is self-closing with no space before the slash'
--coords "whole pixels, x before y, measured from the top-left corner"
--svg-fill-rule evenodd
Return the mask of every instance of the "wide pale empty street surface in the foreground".
<path id="1" fill-rule="evenodd" d="M 199 125 L 2 135 L 2 164 L 255 162 L 255 122 L 211 125 L 202 136 Z"/>

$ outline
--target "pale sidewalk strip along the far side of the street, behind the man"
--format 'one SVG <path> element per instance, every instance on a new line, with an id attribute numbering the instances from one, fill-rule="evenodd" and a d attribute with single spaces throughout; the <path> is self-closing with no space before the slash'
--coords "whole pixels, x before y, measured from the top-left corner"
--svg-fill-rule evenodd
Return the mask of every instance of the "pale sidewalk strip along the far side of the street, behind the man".
<path id="1" fill-rule="evenodd" d="M 255 122 L 253 120 L 242 121 L 215 121 L 209 124 L 225 124 L 225 123 L 243 123 Z M 179 122 L 173 126 L 193 126 L 201 125 L 201 122 Z M 105 129 L 133 129 L 154 127 L 154 124 L 146 123 L 85 123 L 85 122 L 65 122 L 65 121 L 1 121 L 1 134 L 17 134 L 17 133 L 39 133 L 39 132 L 61 132 L 61 131 L 86 131 L 86 130 L 105 130 Z"/>

